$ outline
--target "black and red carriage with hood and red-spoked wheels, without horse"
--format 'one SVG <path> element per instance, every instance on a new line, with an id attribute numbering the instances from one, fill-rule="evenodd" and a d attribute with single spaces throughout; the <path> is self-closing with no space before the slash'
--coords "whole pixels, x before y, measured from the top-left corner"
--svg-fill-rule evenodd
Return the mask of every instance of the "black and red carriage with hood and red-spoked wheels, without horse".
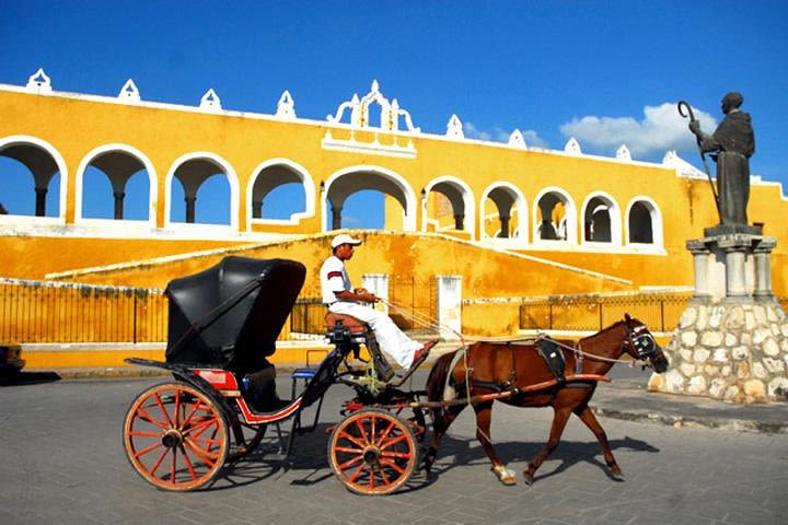
<path id="1" fill-rule="evenodd" d="M 318 366 L 296 370 L 293 398 L 279 399 L 266 358 L 275 352 L 304 276 L 303 265 L 292 260 L 228 257 L 169 284 L 166 362 L 127 360 L 165 369 L 175 378 L 142 392 L 126 415 L 126 453 L 147 481 L 165 490 L 204 487 L 225 462 L 254 450 L 268 425 L 289 421 L 281 444 L 287 455 L 293 438 L 310 430 L 301 423 L 302 411 L 317 404 L 316 423 L 334 384 L 356 390 L 329 439 L 328 463 L 336 476 L 348 489 L 368 494 L 393 492 L 408 480 L 426 424 L 418 407 L 408 408 L 407 419 L 401 413 L 417 404 L 419 393 L 398 388 L 407 377 L 391 372 L 366 326 L 331 315 L 327 336 L 335 348 Z M 354 366 L 348 358 L 360 343 L 375 359 Z M 300 393 L 297 381 L 305 383 Z"/>

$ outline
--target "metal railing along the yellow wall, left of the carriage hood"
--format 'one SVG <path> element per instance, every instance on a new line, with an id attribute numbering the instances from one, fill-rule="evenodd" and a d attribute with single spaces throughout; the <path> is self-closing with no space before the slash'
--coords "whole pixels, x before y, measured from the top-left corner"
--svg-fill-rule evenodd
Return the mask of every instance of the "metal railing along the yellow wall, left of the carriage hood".
<path id="1" fill-rule="evenodd" d="M 0 343 L 161 342 L 166 319 L 157 289 L 0 279 Z"/>

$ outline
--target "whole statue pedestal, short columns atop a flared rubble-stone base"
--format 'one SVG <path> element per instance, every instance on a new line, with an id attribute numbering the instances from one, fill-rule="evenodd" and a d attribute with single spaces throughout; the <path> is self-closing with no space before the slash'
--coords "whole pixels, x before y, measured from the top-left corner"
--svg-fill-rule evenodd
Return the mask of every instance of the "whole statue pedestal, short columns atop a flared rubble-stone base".
<path id="1" fill-rule="evenodd" d="M 718 234 L 687 242 L 695 295 L 665 349 L 671 368 L 652 374 L 649 389 L 734 402 L 786 401 L 788 316 L 772 293 L 769 265 L 776 242 L 739 231 L 705 233 Z"/>

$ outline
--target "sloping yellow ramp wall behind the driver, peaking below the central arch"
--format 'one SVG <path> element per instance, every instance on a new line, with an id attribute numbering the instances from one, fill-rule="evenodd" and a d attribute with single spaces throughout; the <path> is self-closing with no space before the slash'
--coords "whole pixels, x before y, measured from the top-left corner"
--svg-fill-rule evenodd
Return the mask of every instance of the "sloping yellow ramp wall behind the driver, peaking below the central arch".
<path id="1" fill-rule="evenodd" d="M 463 298 L 521 296 L 530 294 L 584 293 L 625 290 L 625 281 L 594 276 L 512 254 L 480 248 L 448 236 L 352 231 L 364 244 L 347 262 L 356 285 L 364 273 L 414 276 L 426 279 L 437 275 L 463 277 Z M 306 266 L 302 295 L 320 295 L 320 266 L 331 255 L 334 234 L 322 234 L 281 243 L 262 243 L 233 248 L 232 255 L 257 258 L 282 257 Z M 200 271 L 217 264 L 228 253 L 195 255 L 183 260 L 139 261 L 125 269 L 112 268 L 83 275 L 63 276 L 67 281 L 93 284 L 134 284 L 164 288 L 175 278 Z M 571 278 L 569 278 L 571 277 Z"/>

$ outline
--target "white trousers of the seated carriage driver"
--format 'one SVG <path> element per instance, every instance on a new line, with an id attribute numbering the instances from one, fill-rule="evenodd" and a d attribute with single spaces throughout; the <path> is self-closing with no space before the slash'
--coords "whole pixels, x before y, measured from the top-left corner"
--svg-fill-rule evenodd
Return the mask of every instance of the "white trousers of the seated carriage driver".
<path id="1" fill-rule="evenodd" d="M 383 312 L 347 301 L 338 301 L 328 306 L 328 310 L 335 314 L 350 315 L 367 323 L 374 332 L 381 350 L 403 369 L 410 368 L 416 350 L 421 348 L 421 343 L 403 334 L 391 320 L 391 317 Z"/>

